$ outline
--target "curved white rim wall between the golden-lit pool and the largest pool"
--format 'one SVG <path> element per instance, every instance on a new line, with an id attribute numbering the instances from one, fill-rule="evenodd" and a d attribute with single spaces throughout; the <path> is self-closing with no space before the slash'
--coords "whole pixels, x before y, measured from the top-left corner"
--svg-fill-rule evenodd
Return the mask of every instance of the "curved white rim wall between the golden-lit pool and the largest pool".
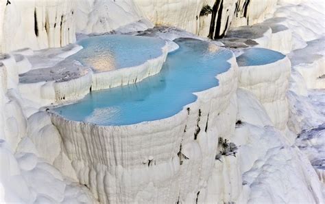
<path id="1" fill-rule="evenodd" d="M 69 47 L 71 46 L 69 45 Z M 67 51 L 69 54 L 64 53 L 62 57 L 75 54 L 75 52 L 82 49 L 81 47 L 81 45 L 75 44 L 71 53 Z M 162 54 L 160 56 L 145 60 L 143 64 L 134 67 L 123 67 L 121 69 L 96 73 L 91 68 L 86 68 L 86 66 L 82 65 L 84 69 L 88 69 L 88 73 L 78 78 L 65 81 L 47 80 L 19 83 L 19 90 L 25 98 L 37 102 L 40 106 L 56 106 L 77 102 L 77 100 L 81 100 L 93 90 L 110 89 L 120 85 L 133 84 L 159 73 L 167 58 L 168 49 L 168 45 L 165 42 L 165 45 L 161 47 Z M 29 97 L 31 92 L 36 93 L 36 95 L 32 94 L 32 98 Z"/>

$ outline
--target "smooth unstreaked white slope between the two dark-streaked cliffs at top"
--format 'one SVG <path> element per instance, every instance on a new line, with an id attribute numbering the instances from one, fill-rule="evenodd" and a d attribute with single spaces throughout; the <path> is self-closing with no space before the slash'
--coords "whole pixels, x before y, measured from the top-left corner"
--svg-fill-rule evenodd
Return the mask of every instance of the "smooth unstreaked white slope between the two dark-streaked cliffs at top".
<path id="1" fill-rule="evenodd" d="M 82 0 L 77 3 L 76 14 L 77 32 L 85 34 L 112 32 L 125 25 L 130 32 L 153 27 L 133 0 Z"/>

